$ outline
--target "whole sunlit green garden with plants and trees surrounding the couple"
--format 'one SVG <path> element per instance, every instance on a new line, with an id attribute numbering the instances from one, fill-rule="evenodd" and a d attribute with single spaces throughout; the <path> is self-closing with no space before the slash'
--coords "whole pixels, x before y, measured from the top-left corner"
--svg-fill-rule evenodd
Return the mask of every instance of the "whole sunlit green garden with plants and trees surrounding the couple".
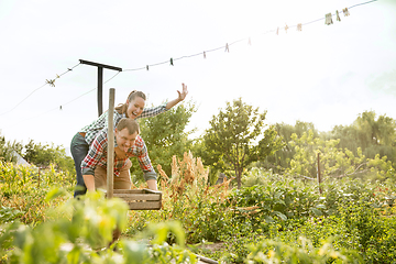
<path id="1" fill-rule="evenodd" d="M 166 121 L 188 120 L 191 109 L 141 123 L 160 210 L 128 210 L 100 191 L 75 199 L 64 150 L 13 144 L 38 165 L 24 166 L 2 141 L 0 262 L 395 263 L 394 120 L 364 112 L 349 127 L 318 133 L 305 122 L 260 129 L 264 114 L 250 129 L 254 113 L 234 103 L 195 142 L 182 132 L 187 122 Z M 235 124 L 241 128 L 227 129 Z M 254 145 L 246 139 L 255 136 L 241 131 L 264 136 Z M 227 143 L 237 148 L 227 152 Z M 145 188 L 134 172 L 133 188 Z M 110 243 L 116 229 L 121 238 Z"/>

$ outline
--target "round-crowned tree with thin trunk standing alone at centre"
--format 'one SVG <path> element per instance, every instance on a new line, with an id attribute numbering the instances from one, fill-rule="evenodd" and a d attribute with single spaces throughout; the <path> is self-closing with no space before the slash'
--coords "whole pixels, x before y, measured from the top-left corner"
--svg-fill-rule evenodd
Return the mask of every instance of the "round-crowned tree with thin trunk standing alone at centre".
<path id="1" fill-rule="evenodd" d="M 238 188 L 241 187 L 243 169 L 252 162 L 264 158 L 260 155 L 271 153 L 264 147 L 273 147 L 273 142 L 267 142 L 268 138 L 264 136 L 265 116 L 266 111 L 260 113 L 258 108 L 254 109 L 239 98 L 232 103 L 227 102 L 226 109 L 213 116 L 211 128 L 205 132 L 205 146 L 218 164 L 223 160 L 224 165 L 234 170 Z M 261 136 L 264 139 L 258 141 Z"/>

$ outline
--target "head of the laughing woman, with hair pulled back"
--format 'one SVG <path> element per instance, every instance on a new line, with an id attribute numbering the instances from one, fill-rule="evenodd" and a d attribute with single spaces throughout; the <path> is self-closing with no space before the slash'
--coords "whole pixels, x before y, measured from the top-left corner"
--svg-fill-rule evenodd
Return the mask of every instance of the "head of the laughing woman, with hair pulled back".
<path id="1" fill-rule="evenodd" d="M 127 102 L 116 108 L 119 113 L 125 113 L 127 118 L 135 119 L 143 112 L 146 96 L 143 91 L 133 90 L 127 98 Z"/>

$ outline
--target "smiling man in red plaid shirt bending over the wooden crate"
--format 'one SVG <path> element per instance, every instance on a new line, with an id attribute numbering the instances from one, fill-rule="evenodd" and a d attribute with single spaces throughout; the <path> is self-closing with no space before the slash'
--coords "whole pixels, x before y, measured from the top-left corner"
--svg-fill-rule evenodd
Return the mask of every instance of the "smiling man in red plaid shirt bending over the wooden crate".
<path id="1" fill-rule="evenodd" d="M 107 186 L 107 129 L 101 130 L 89 147 L 81 163 L 81 173 L 88 191 Z M 147 147 L 139 135 L 139 124 L 135 120 L 123 118 L 114 130 L 114 189 L 130 189 L 132 186 L 129 157 L 138 157 L 148 188 L 156 188 L 156 173 L 148 157 Z"/>

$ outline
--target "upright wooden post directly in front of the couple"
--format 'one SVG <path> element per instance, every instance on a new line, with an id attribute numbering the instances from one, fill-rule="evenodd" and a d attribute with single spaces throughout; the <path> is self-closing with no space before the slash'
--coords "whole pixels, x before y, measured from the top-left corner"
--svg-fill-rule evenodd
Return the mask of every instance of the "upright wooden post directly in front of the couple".
<path id="1" fill-rule="evenodd" d="M 113 197 L 114 178 L 114 94 L 116 89 L 110 88 L 109 92 L 109 119 L 108 119 L 108 158 L 107 158 L 107 198 Z"/>

